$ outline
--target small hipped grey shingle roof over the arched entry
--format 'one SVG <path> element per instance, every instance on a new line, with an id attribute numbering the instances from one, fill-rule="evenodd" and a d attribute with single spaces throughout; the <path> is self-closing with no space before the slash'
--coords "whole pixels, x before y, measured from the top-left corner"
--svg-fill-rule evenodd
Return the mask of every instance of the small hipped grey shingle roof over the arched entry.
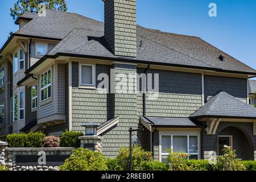
<path id="1" fill-rule="evenodd" d="M 256 109 L 226 92 L 219 92 L 190 116 L 190 118 L 205 117 L 256 119 Z"/>

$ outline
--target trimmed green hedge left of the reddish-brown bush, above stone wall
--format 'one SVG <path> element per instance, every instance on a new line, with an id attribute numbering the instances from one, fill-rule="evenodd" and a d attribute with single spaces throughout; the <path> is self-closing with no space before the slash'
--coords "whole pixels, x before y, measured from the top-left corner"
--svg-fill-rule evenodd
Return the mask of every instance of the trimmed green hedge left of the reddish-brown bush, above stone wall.
<path id="1" fill-rule="evenodd" d="M 43 133 L 10 134 L 6 140 L 11 148 L 19 147 L 42 147 Z"/>

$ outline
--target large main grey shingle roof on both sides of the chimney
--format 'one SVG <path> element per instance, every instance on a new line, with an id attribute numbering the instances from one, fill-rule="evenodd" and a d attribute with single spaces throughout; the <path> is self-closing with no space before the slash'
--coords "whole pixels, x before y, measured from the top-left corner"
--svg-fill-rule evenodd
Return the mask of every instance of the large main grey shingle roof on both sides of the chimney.
<path id="1" fill-rule="evenodd" d="M 75 13 L 47 10 L 45 17 L 35 16 L 15 33 L 63 39 L 49 55 L 62 52 L 115 57 L 103 37 L 104 23 Z M 139 46 L 141 41 L 142 47 Z M 137 26 L 137 45 L 135 61 L 256 74 L 253 68 L 196 36 L 171 34 Z M 220 55 L 224 56 L 224 61 L 218 59 Z"/>

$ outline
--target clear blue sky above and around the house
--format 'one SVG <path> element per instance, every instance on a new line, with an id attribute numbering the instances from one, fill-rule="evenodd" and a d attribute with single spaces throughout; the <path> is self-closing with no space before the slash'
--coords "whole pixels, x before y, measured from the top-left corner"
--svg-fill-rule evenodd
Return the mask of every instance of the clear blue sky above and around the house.
<path id="1" fill-rule="evenodd" d="M 0 47 L 18 30 L 10 14 L 16 0 L 0 1 Z M 104 20 L 101 0 L 66 0 L 68 11 Z M 208 5 L 217 5 L 209 17 Z M 137 0 L 137 23 L 147 28 L 195 35 L 256 69 L 256 0 Z"/>

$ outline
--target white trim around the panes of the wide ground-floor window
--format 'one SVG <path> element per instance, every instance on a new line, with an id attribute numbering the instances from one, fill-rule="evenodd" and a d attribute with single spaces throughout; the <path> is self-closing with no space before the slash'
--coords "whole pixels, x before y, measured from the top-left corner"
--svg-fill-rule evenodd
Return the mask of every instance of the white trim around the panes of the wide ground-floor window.
<path id="1" fill-rule="evenodd" d="M 186 154 L 188 155 L 197 155 L 198 159 L 200 159 L 200 134 L 160 134 L 159 138 L 159 161 L 162 162 L 162 155 L 168 156 L 170 153 L 162 151 L 162 136 L 171 136 L 171 150 L 173 150 L 173 136 L 187 136 L 187 149 L 188 152 Z M 189 137 L 196 136 L 197 137 L 197 143 L 198 143 L 198 152 L 189 152 Z"/>

